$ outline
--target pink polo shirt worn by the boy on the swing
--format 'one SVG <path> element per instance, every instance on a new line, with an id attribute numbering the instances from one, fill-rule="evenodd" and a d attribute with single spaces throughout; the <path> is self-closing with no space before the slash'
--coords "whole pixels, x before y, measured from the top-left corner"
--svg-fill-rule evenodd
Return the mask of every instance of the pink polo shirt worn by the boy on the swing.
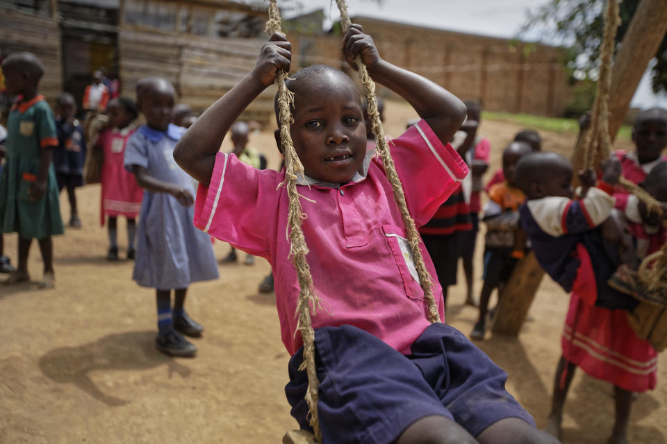
<path id="1" fill-rule="evenodd" d="M 409 211 L 417 226 L 424 225 L 468 167 L 423 120 L 390 146 Z M 427 305 L 381 160 L 374 157 L 367 166 L 365 176 L 357 174 L 340 187 L 315 182 L 298 188 L 307 216 L 307 260 L 323 302 L 313 327 L 354 325 L 409 354 L 429 325 Z M 293 355 L 302 345 L 296 316 L 299 283 L 286 237 L 287 192 L 278 188 L 283 178 L 283 173 L 259 171 L 218 153 L 211 184 L 197 190 L 195 225 L 271 263 L 282 340 Z M 426 248 L 420 247 L 443 316 L 442 289 Z"/>

